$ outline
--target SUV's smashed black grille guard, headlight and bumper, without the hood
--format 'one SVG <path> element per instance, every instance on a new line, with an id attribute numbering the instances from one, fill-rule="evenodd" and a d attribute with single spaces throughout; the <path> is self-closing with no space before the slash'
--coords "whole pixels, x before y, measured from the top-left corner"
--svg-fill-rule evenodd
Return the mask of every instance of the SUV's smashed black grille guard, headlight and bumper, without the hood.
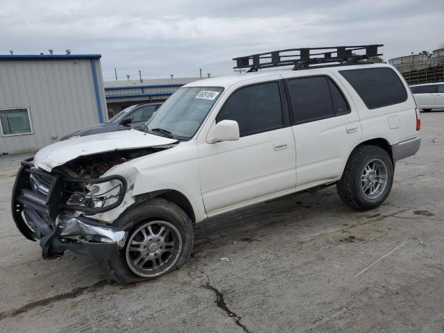
<path id="1" fill-rule="evenodd" d="M 101 187 L 106 185 L 104 193 Z M 12 190 L 12 217 L 22 234 L 40 239 L 42 257 L 53 259 L 65 250 L 107 259 L 122 248 L 127 232 L 103 225 L 88 214 L 108 212 L 126 196 L 127 181 L 119 175 L 73 178 L 62 169 L 35 169 L 22 162 Z"/>

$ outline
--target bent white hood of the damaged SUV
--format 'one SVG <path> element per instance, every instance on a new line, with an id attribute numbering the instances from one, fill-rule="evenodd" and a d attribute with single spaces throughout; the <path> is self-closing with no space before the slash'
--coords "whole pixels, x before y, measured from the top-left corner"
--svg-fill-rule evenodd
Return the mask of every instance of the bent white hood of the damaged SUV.
<path id="1" fill-rule="evenodd" d="M 35 154 L 34 166 L 51 171 L 79 156 L 121 149 L 164 146 L 175 142 L 177 142 L 176 139 L 160 137 L 139 130 L 120 130 L 119 132 L 87 135 L 56 142 L 40 149 Z"/>

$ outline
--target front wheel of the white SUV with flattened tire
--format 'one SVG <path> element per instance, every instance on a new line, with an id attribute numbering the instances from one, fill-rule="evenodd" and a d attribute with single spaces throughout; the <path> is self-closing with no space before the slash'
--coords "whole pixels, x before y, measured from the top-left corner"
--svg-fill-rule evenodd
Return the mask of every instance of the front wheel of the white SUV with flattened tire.
<path id="1" fill-rule="evenodd" d="M 116 282 L 128 284 L 158 278 L 189 260 L 194 242 L 191 220 L 180 207 L 164 198 L 152 198 L 130 207 L 112 225 L 133 225 L 118 255 L 104 262 Z"/>

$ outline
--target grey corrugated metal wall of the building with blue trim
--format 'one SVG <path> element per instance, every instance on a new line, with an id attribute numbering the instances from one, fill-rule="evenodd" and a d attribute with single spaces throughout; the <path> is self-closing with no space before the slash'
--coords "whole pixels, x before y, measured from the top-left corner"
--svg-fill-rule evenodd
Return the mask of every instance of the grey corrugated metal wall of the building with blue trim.
<path id="1" fill-rule="evenodd" d="M 73 130 L 107 119 L 99 59 L 0 60 L 0 109 L 29 108 L 33 134 L 0 137 L 0 153 L 25 153 L 57 142 Z M 53 138 L 55 137 L 55 138 Z"/>

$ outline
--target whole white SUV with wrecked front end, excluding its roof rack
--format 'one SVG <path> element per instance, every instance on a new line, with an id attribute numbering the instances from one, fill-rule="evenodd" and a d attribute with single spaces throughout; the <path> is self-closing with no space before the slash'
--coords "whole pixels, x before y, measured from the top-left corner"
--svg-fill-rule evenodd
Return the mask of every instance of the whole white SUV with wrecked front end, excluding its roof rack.
<path id="1" fill-rule="evenodd" d="M 420 146 L 415 101 L 385 64 L 303 66 L 189 83 L 144 130 L 77 137 L 22 162 L 12 215 L 51 259 L 101 260 L 122 283 L 185 264 L 193 225 L 314 187 L 371 210 Z"/>

